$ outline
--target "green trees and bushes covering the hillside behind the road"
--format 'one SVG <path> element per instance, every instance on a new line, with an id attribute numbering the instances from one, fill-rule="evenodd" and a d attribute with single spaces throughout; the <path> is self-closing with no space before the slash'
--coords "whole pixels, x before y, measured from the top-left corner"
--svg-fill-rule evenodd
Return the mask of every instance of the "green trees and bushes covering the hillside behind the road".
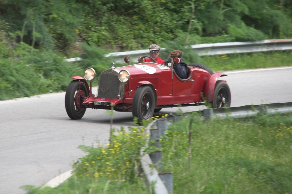
<path id="1" fill-rule="evenodd" d="M 109 52 L 291 38 L 291 8 L 287 0 L 1 0 L 0 100 L 64 91 L 85 67 L 108 68 Z M 184 52 L 186 62 L 204 62 Z M 63 60 L 71 57 L 84 60 Z"/>

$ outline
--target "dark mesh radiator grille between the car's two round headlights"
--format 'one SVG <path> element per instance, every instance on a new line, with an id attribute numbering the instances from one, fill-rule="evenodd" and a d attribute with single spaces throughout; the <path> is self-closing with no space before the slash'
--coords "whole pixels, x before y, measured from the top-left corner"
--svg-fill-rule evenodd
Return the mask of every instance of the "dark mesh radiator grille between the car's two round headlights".
<path id="1" fill-rule="evenodd" d="M 118 78 L 118 73 L 114 70 L 105 70 L 100 73 L 98 83 L 98 98 L 119 98 L 123 97 L 124 83 Z"/>

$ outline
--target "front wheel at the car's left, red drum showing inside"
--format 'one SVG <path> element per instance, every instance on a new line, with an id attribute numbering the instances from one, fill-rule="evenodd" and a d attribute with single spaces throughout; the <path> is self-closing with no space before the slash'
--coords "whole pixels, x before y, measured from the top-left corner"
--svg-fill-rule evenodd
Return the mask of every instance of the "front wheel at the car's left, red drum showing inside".
<path id="1" fill-rule="evenodd" d="M 88 96 L 88 90 L 85 84 L 81 84 L 79 90 L 79 80 L 73 80 L 67 87 L 65 95 L 65 108 L 71 119 L 81 119 L 86 111 L 86 107 L 82 106 L 83 97 Z"/>

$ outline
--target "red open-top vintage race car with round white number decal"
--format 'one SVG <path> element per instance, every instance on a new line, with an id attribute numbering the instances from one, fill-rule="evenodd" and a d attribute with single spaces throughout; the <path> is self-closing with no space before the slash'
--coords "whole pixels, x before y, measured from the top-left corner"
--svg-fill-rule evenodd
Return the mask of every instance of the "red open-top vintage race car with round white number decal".
<path id="1" fill-rule="evenodd" d="M 230 88 L 225 80 L 218 80 L 227 75 L 192 63 L 188 65 L 188 77 L 181 79 L 173 69 L 174 61 L 164 65 L 152 59 L 130 65 L 126 57 L 128 66 L 115 68 L 112 63 L 111 68 L 99 75 L 96 96 L 92 93 L 96 73 L 93 68 L 87 68 L 84 77 L 71 77 L 75 80 L 67 87 L 65 108 L 68 116 L 81 119 L 86 108 L 111 110 L 113 106 L 115 111 L 130 111 L 142 121 L 165 107 L 206 105 L 205 101 L 213 108 L 230 107 Z"/>

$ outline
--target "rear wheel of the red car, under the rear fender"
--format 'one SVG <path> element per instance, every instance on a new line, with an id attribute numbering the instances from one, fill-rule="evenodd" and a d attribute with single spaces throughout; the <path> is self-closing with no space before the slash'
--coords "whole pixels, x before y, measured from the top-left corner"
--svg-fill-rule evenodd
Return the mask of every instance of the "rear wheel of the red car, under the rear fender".
<path id="1" fill-rule="evenodd" d="M 218 81 L 214 90 L 214 98 L 212 102 L 213 108 L 230 107 L 231 92 L 228 84 L 224 81 Z"/>

